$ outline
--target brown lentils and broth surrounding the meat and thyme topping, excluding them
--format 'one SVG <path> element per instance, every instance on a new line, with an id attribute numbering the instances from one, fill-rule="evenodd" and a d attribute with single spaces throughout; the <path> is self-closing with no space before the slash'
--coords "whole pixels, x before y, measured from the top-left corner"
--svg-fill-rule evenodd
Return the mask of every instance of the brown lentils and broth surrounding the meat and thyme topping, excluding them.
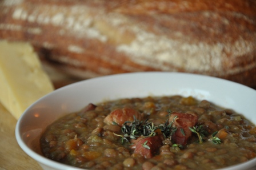
<path id="1" fill-rule="evenodd" d="M 154 157 L 134 154 L 130 143 L 122 143 L 121 127 L 103 122 L 110 112 L 129 107 L 156 126 L 166 122 L 169 112 L 196 114 L 198 125 L 208 132 L 203 143 L 193 133 L 183 148 L 162 144 Z M 220 144 L 213 143 L 213 133 Z M 223 132 L 223 133 L 221 133 Z M 256 157 L 256 128 L 232 110 L 192 97 L 163 96 L 132 98 L 97 104 L 95 110 L 64 116 L 41 137 L 43 154 L 49 159 L 86 169 L 217 169 Z"/>

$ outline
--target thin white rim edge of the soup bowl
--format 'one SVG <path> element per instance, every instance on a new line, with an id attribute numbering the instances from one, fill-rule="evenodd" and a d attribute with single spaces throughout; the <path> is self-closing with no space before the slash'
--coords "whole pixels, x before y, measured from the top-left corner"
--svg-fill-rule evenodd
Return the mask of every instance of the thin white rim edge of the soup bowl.
<path id="1" fill-rule="evenodd" d="M 21 117 L 18 119 L 18 122 L 15 126 L 15 137 L 16 140 L 18 142 L 19 147 L 22 148 L 22 150 L 29 155 L 30 157 L 32 157 L 34 160 L 36 160 L 39 164 L 43 164 L 43 165 L 47 165 L 49 167 L 52 168 L 57 168 L 57 169 L 74 169 L 74 170 L 78 170 L 78 169 L 82 169 L 82 168 L 78 168 L 78 167 L 72 167 L 71 165 L 66 165 L 66 164 L 62 164 L 62 163 L 58 163 L 57 161 L 54 160 L 50 160 L 47 159 L 46 157 L 39 155 L 38 153 L 36 153 L 35 151 L 33 151 L 32 149 L 30 149 L 24 142 L 21 136 L 21 131 L 20 131 L 20 125 L 21 125 L 21 121 L 23 119 L 23 117 L 26 115 L 27 111 L 30 110 L 30 108 L 32 106 L 34 106 L 35 104 L 37 104 L 38 102 L 40 102 L 43 98 L 48 98 L 51 95 L 54 95 L 55 93 L 61 92 L 63 90 L 66 90 L 67 88 L 71 88 L 73 86 L 78 86 L 79 84 L 83 84 L 83 83 L 87 83 L 90 81 L 96 81 L 96 80 L 104 80 L 104 79 L 109 79 L 109 78 L 120 78 L 121 76 L 133 76 L 133 75 L 158 75 L 158 74 L 167 74 L 167 75 L 186 75 L 186 76 L 195 76 L 197 78 L 203 78 L 203 79 L 212 79 L 212 80 L 218 80 L 221 82 L 225 82 L 225 83 L 230 83 L 233 84 L 234 86 L 238 86 L 238 87 L 242 87 L 242 88 L 246 88 L 247 90 L 254 92 L 256 94 L 256 90 L 254 90 L 251 87 L 247 87 L 243 84 L 239 84 L 237 82 L 232 82 L 230 80 L 226 80 L 226 79 L 222 79 L 222 78 L 217 78 L 214 76 L 209 76 L 209 75 L 200 75 L 200 74 L 193 74 L 193 73 L 185 73 L 185 72 L 163 72 L 163 71 L 148 71 L 148 72 L 130 72 L 130 73 L 122 73 L 122 74 L 114 74 L 114 75 L 106 75 L 106 76 L 101 76 L 101 77 L 96 77 L 96 78 L 90 78 L 90 79 L 86 79 L 86 80 L 81 80 L 79 82 L 75 82 L 72 84 L 69 84 L 67 86 L 63 86 L 61 88 L 58 88 L 57 90 L 54 90 L 53 92 L 50 92 L 49 94 L 42 96 L 42 98 L 38 99 L 37 101 L 35 101 L 33 104 L 31 104 L 31 106 L 29 106 L 21 115 Z M 241 164 L 237 164 L 237 165 L 232 165 L 230 167 L 226 167 L 226 168 L 221 168 L 221 169 L 225 169 L 225 170 L 233 170 L 233 169 L 241 169 L 245 166 L 245 164 L 247 165 L 247 168 L 251 168 L 254 167 L 256 165 L 256 158 L 251 159 L 249 161 L 246 161 L 245 163 L 241 163 Z M 219 169 L 219 170 L 221 170 Z"/>

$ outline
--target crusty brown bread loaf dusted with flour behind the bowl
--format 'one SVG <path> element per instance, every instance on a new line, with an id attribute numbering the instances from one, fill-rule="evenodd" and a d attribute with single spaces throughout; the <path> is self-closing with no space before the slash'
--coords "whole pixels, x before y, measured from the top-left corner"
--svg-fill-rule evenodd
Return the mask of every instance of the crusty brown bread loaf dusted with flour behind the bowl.
<path id="1" fill-rule="evenodd" d="M 79 78 L 179 71 L 256 86 L 254 0 L 3 0 L 0 38 Z"/>

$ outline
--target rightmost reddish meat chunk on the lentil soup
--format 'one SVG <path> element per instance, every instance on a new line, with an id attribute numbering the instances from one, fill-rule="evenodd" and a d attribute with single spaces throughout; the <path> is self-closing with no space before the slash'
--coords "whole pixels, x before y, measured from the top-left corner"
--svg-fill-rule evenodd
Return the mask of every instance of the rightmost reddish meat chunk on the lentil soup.
<path id="1" fill-rule="evenodd" d="M 187 140 L 192 136 L 192 132 L 189 127 L 194 127 L 198 122 L 198 116 L 196 114 L 184 114 L 184 113 L 173 113 L 171 114 L 169 121 L 172 121 L 175 116 L 173 126 L 177 127 L 177 131 L 171 136 L 171 139 L 176 144 L 186 145 Z M 183 132 L 185 134 L 183 134 Z"/>

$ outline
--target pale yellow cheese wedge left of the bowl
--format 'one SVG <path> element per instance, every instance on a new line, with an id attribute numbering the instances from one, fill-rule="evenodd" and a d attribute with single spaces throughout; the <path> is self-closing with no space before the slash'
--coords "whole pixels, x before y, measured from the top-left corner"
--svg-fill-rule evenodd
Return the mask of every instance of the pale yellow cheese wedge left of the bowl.
<path id="1" fill-rule="evenodd" d="M 29 43 L 0 41 L 0 102 L 15 119 L 53 90 Z"/>

